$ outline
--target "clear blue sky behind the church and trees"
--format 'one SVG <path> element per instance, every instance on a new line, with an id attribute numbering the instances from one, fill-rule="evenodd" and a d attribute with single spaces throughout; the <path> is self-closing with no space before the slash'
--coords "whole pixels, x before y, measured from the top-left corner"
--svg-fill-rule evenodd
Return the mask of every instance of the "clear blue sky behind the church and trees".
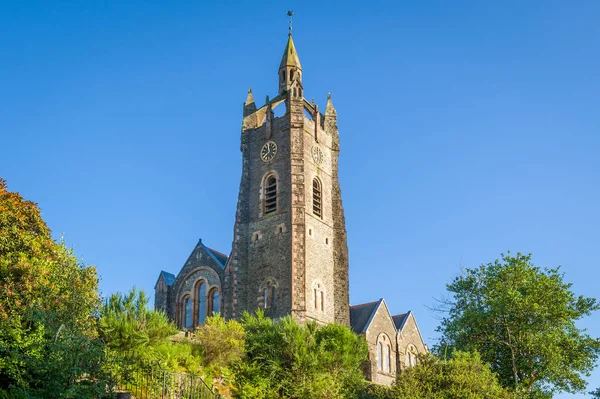
<path id="1" fill-rule="evenodd" d="M 352 303 L 433 344 L 444 284 L 508 249 L 599 296 L 599 2 L 222 3 L 0 5 L 0 176 L 104 295 L 230 250 L 242 102 L 276 94 L 294 8 L 339 115 Z"/>

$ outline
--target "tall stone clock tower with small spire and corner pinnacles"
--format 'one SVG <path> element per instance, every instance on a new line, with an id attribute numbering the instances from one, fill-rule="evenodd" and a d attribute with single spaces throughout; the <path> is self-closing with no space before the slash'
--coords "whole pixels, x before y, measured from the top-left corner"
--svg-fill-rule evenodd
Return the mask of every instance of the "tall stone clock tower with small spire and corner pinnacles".
<path id="1" fill-rule="evenodd" d="M 349 324 L 337 115 L 331 96 L 325 114 L 304 98 L 302 77 L 290 30 L 278 94 L 259 108 L 249 90 L 244 103 L 242 179 L 223 287 L 228 318 L 262 308 L 273 318 Z"/>

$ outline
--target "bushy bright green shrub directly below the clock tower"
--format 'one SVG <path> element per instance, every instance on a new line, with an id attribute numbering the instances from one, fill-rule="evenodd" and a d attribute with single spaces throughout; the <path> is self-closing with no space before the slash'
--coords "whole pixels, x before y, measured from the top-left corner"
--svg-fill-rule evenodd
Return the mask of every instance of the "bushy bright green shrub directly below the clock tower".
<path id="1" fill-rule="evenodd" d="M 367 346 L 349 328 L 300 326 L 289 316 L 274 322 L 263 312 L 245 314 L 242 325 L 246 360 L 235 369 L 237 397 L 349 398 L 364 386 Z"/>

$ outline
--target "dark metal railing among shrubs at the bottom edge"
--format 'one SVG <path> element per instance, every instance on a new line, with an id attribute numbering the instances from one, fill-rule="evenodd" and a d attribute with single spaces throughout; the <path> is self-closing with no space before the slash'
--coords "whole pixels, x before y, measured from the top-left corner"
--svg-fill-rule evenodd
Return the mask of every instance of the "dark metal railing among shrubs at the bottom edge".
<path id="1" fill-rule="evenodd" d="M 116 388 L 135 399 L 220 398 L 201 377 L 162 370 L 158 366 L 120 368 Z"/>

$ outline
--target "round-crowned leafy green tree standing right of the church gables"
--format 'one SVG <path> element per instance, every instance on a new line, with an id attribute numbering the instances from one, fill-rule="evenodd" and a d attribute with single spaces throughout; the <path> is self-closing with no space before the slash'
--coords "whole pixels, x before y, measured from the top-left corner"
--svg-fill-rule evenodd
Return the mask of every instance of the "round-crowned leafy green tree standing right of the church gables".
<path id="1" fill-rule="evenodd" d="M 563 277 L 520 253 L 466 269 L 447 286 L 437 350 L 479 351 L 504 386 L 530 397 L 583 391 L 600 343 L 575 322 L 599 306 L 576 296 Z"/>

